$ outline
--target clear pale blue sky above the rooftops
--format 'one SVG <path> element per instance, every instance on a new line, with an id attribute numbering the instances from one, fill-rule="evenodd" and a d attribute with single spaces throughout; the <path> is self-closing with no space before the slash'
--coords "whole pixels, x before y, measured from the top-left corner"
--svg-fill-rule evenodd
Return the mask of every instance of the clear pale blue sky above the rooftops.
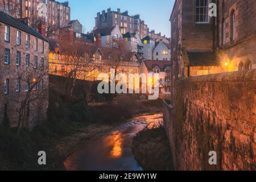
<path id="1" fill-rule="evenodd" d="M 129 15 L 140 14 L 141 19 L 145 21 L 150 30 L 154 29 L 156 33 L 170 36 L 171 25 L 169 22 L 172 7 L 175 0 L 68 0 L 71 7 L 71 19 L 78 19 L 84 31 L 93 30 L 95 26 L 95 17 L 97 12 L 112 10 L 121 12 L 128 10 Z"/>

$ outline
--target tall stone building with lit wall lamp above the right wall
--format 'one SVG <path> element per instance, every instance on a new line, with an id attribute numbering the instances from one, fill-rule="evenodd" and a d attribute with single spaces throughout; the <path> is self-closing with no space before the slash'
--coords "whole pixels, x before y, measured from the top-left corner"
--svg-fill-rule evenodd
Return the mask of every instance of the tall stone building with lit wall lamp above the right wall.
<path id="1" fill-rule="evenodd" d="M 216 3 L 217 17 L 209 16 L 209 3 Z M 170 18 L 172 77 L 255 68 L 255 16 L 253 0 L 176 0 Z"/>

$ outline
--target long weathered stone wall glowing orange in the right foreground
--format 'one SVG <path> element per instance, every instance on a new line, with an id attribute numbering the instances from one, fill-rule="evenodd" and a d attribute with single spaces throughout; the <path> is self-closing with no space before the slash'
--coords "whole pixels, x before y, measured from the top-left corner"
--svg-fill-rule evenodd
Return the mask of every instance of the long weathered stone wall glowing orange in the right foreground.
<path id="1" fill-rule="evenodd" d="M 176 88 L 174 108 L 163 105 L 175 169 L 255 170 L 256 70 L 184 78 Z"/>

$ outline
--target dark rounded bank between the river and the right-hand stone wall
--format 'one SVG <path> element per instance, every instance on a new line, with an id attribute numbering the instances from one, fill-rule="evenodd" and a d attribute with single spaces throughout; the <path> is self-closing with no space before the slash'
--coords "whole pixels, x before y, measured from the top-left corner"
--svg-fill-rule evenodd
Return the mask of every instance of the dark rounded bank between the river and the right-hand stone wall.
<path id="1" fill-rule="evenodd" d="M 133 139 L 133 154 L 146 171 L 172 171 L 170 144 L 163 126 L 150 126 Z"/>

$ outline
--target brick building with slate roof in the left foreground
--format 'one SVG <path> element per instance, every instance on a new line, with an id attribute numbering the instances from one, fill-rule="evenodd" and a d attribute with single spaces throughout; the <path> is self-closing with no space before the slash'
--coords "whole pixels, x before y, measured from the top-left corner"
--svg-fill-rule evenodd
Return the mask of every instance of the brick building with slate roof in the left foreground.
<path id="1" fill-rule="evenodd" d="M 0 36 L 0 123 L 32 129 L 47 119 L 48 40 L 2 11 Z"/>

